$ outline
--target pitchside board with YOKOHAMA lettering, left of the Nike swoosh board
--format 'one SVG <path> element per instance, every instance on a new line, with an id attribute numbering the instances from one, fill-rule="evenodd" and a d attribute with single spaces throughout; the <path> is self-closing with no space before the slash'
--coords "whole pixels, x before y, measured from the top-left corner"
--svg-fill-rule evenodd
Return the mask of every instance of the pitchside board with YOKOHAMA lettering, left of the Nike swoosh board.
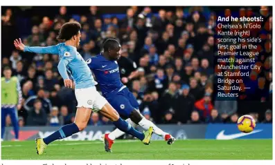
<path id="1" fill-rule="evenodd" d="M 178 126 L 178 125 L 158 125 L 163 131 L 170 133 L 177 139 L 204 139 L 206 125 L 191 125 L 191 126 Z M 24 127 L 19 132 L 19 140 L 35 139 L 37 137 L 47 137 L 53 132 L 58 130 L 59 127 Z M 98 140 L 104 133 L 110 133 L 114 130 L 114 126 L 87 126 L 85 130 L 71 137 L 62 140 Z M 142 130 L 142 129 L 140 129 Z M 4 139 L 12 140 L 14 133 L 12 127 L 6 128 Z M 158 135 L 153 134 L 153 140 L 161 139 Z"/>

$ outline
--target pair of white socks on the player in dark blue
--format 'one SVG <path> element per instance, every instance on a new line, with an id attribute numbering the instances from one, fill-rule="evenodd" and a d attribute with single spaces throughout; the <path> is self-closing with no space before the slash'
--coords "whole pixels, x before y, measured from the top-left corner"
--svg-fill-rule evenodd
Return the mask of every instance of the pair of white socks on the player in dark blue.
<path id="1" fill-rule="evenodd" d="M 131 119 L 126 119 L 125 121 L 128 122 L 129 124 L 131 124 L 131 126 L 133 126 L 134 128 L 136 128 L 136 124 L 134 124 L 134 122 L 132 122 Z M 154 133 L 159 135 L 159 136 L 162 136 L 163 138 L 165 137 L 165 135 L 168 134 L 168 133 L 163 132 L 163 130 L 161 130 L 159 127 L 154 125 L 150 120 L 145 119 L 145 117 L 143 117 L 141 119 L 141 122 L 139 122 L 139 126 L 141 126 L 145 130 L 148 130 L 150 128 L 150 126 L 152 126 L 153 130 L 154 130 Z M 116 128 L 114 131 L 112 131 L 112 133 L 109 133 L 109 139 L 114 140 L 118 137 L 121 137 L 124 134 L 125 133 L 123 131 Z"/>

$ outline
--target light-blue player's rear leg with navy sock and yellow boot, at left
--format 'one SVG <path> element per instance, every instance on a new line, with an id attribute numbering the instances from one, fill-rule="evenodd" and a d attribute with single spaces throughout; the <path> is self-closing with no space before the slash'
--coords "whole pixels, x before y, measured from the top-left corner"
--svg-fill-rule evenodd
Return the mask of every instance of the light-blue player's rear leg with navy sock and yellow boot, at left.
<path id="1" fill-rule="evenodd" d="M 90 115 L 91 108 L 79 107 L 78 110 L 76 110 L 76 119 L 73 124 L 62 126 L 59 130 L 55 131 L 55 133 L 49 135 L 48 137 L 45 137 L 44 139 L 35 139 L 35 142 L 37 144 L 37 154 L 42 155 L 42 153 L 44 153 L 44 150 L 46 149 L 46 146 L 51 142 L 54 142 L 57 139 L 64 139 L 84 130 L 87 126 Z"/>

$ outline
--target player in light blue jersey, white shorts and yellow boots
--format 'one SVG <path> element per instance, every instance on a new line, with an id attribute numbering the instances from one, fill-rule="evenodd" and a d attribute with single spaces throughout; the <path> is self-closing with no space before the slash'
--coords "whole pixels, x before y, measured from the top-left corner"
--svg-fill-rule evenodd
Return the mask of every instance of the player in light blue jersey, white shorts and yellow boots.
<path id="1" fill-rule="evenodd" d="M 16 39 L 14 41 L 15 48 L 24 52 L 59 55 L 60 62 L 57 68 L 64 79 L 64 85 L 73 88 L 73 81 L 76 84 L 75 94 L 78 101 L 78 109 L 76 111 L 75 122 L 73 124 L 62 126 L 60 130 L 57 130 L 55 133 L 44 139 L 35 139 L 37 144 L 37 154 L 42 155 L 46 146 L 51 142 L 57 139 L 69 137 L 84 130 L 87 126 L 92 110 L 94 112 L 99 111 L 102 115 L 110 119 L 117 128 L 125 133 L 137 137 L 143 142 L 143 144 L 150 144 L 153 131 L 152 127 L 145 133 L 140 133 L 135 130 L 130 124 L 121 119 L 116 110 L 114 110 L 107 100 L 96 91 L 96 81 L 94 81 L 91 70 L 76 49 L 80 43 L 80 29 L 81 26 L 78 22 L 64 23 L 57 38 L 64 40 L 65 42 L 59 43 L 56 46 L 28 47 L 24 46 L 21 39 Z M 73 81 L 69 79 L 67 71 L 71 74 Z M 109 148 L 109 146 L 106 147 Z M 111 152 L 110 150 L 106 151 Z"/>

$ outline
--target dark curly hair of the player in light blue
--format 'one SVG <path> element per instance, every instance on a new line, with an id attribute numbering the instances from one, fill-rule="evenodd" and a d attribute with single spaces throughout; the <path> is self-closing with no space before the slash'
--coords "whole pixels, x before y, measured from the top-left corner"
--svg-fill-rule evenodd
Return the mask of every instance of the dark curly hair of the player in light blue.
<path id="1" fill-rule="evenodd" d="M 80 29 L 81 25 L 77 21 L 64 23 L 64 25 L 62 25 L 62 27 L 60 28 L 57 39 L 67 41 L 71 39 L 71 37 L 73 37 L 74 35 L 78 35 L 78 31 Z"/>

